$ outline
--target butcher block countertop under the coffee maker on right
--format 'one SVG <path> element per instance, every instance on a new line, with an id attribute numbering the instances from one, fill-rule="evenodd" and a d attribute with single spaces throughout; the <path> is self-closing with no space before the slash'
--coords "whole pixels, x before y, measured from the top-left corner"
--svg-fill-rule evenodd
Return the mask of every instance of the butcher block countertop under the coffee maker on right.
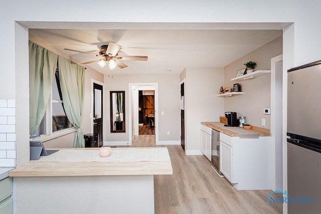
<path id="1" fill-rule="evenodd" d="M 252 129 L 244 129 L 241 127 L 226 127 L 224 126 L 224 123 L 221 122 L 201 122 L 201 124 L 231 137 L 258 138 L 262 136 L 271 136 L 269 129 L 257 126 L 252 126 Z"/>

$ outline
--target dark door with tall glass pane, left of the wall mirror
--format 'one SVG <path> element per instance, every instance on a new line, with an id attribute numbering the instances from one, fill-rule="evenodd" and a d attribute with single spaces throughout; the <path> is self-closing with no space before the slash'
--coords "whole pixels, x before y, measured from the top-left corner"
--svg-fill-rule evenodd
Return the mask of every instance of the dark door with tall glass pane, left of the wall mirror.
<path id="1" fill-rule="evenodd" d="M 94 133 L 98 134 L 98 146 L 103 145 L 103 90 L 102 86 L 94 83 L 93 91 L 93 102 L 94 102 L 94 120 L 93 120 L 93 130 Z"/>

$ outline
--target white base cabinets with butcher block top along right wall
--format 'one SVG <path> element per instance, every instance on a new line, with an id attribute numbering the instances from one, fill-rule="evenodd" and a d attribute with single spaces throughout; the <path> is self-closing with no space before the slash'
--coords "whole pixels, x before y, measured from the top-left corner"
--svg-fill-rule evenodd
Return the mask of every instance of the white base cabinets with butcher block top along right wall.
<path id="1" fill-rule="evenodd" d="M 211 129 L 220 132 L 219 148 L 212 148 Z M 220 122 L 201 122 L 201 148 L 205 148 L 202 152 L 210 160 L 211 154 L 219 152 L 220 171 L 238 190 L 271 189 L 271 146 L 268 129 L 248 130 L 226 127 Z"/>

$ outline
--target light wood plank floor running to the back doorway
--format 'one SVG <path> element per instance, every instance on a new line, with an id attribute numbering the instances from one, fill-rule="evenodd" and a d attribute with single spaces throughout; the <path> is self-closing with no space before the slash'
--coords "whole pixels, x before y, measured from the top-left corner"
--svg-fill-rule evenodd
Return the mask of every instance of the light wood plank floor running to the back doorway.
<path id="1" fill-rule="evenodd" d="M 155 147 L 155 135 L 135 136 L 132 146 Z M 271 190 L 236 190 L 204 155 L 186 156 L 180 145 L 165 147 L 173 175 L 154 175 L 156 214 L 282 213 L 282 204 L 267 203 Z"/>

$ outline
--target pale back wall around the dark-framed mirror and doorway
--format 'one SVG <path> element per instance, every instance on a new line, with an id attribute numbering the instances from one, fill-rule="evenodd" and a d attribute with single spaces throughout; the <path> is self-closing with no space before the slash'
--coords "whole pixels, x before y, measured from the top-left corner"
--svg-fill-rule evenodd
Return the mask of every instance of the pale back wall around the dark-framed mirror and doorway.
<path id="1" fill-rule="evenodd" d="M 128 68 L 130 69 L 130 68 Z M 105 141 L 128 141 L 128 83 L 158 83 L 158 140 L 180 140 L 180 75 L 105 75 Z M 125 91 L 126 132 L 110 133 L 109 91 Z M 161 112 L 164 111 L 164 115 Z M 170 131 L 170 135 L 167 135 Z"/>

